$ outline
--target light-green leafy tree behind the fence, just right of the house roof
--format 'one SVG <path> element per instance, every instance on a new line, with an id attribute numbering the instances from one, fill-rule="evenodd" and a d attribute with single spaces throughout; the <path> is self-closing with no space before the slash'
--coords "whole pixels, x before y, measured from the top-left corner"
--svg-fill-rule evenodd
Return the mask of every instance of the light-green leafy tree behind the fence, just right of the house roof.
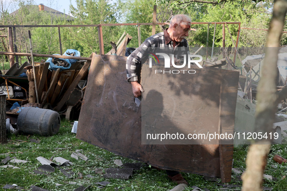
<path id="1" fill-rule="evenodd" d="M 77 7 L 70 6 L 70 11 L 75 16 L 75 25 L 117 23 L 116 5 L 109 4 L 107 0 L 76 0 Z M 104 50 L 108 52 L 112 46 L 110 41 L 117 39 L 116 27 L 102 27 Z M 77 40 L 78 49 L 84 56 L 91 52 L 99 53 L 99 37 L 97 27 L 72 28 L 69 31 L 70 38 Z M 70 42 L 74 43 L 74 42 Z M 68 43 L 68 44 L 70 44 Z"/>

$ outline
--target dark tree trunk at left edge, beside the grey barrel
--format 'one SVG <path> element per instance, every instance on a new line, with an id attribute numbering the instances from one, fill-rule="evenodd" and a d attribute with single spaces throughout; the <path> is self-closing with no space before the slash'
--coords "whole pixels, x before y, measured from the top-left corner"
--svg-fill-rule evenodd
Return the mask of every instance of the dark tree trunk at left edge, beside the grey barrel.
<path id="1" fill-rule="evenodd" d="M 0 144 L 6 141 L 6 95 L 0 95 Z"/>

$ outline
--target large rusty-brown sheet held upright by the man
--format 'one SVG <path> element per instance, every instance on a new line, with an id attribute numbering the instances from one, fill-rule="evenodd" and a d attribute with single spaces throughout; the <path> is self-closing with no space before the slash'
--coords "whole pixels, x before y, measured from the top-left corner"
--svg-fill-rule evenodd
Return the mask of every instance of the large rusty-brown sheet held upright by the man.
<path id="1" fill-rule="evenodd" d="M 143 65 L 143 84 L 151 83 L 151 79 L 144 80 L 144 76 L 149 75 L 145 73 L 146 69 Z M 182 81 L 176 84 L 178 80 L 162 76 L 161 81 L 167 84 L 161 86 L 167 89 L 172 86 L 183 91 L 183 100 L 192 96 L 194 101 L 189 104 L 193 105 L 186 106 L 186 111 L 197 111 L 197 114 L 193 114 L 194 126 L 190 128 L 197 126 L 216 132 L 233 133 L 239 74 L 214 68 L 198 71 L 201 77 L 193 78 L 196 82 Z M 181 88 L 186 83 L 192 84 L 190 89 Z M 143 99 L 151 90 L 152 87 L 145 87 Z M 163 95 L 164 100 L 169 97 Z M 141 123 L 141 105 L 136 106 L 131 85 L 126 81 L 125 58 L 94 54 L 78 122 L 78 139 L 155 167 L 221 177 L 223 182 L 230 181 L 233 146 L 229 142 L 142 144 Z"/>

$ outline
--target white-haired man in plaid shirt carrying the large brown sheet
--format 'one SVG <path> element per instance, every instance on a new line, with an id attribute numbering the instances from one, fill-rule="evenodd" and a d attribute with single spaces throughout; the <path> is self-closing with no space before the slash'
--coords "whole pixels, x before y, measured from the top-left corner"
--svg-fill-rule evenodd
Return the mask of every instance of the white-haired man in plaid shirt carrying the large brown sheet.
<path id="1" fill-rule="evenodd" d="M 139 71 L 142 64 L 142 57 L 146 48 L 176 48 L 188 47 L 185 37 L 190 31 L 191 19 L 186 15 L 175 15 L 170 19 L 169 28 L 164 32 L 157 33 L 147 38 L 140 47 L 127 58 L 126 69 L 127 79 L 132 84 L 133 94 L 140 97 L 143 87 L 139 80 Z M 144 62 L 144 61 L 143 61 Z M 188 184 L 184 177 L 177 171 L 167 170 L 169 178 L 178 184 Z"/>

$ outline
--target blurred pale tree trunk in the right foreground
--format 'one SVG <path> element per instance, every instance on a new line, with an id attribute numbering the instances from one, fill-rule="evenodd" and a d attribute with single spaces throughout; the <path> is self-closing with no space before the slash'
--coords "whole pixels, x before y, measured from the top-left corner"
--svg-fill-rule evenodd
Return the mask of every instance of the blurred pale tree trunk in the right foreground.
<path id="1" fill-rule="evenodd" d="M 280 38 L 287 11 L 287 0 L 275 0 L 270 29 L 267 36 L 262 76 L 257 88 L 255 113 L 255 133 L 272 131 L 278 104 L 276 94 L 277 59 Z M 242 175 L 243 191 L 261 191 L 266 159 L 270 150 L 270 141 L 256 140 L 249 148 L 246 159 L 246 171 Z"/>

